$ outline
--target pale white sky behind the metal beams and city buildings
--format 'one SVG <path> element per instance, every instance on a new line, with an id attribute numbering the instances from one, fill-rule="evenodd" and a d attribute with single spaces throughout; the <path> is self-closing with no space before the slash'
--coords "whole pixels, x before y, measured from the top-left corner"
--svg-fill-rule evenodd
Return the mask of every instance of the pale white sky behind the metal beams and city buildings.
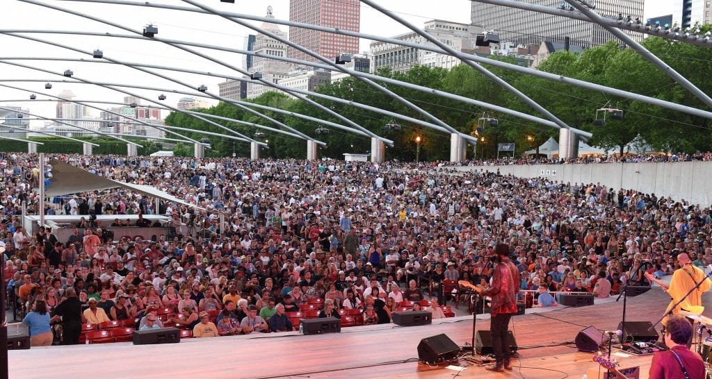
<path id="1" fill-rule="evenodd" d="M 237 23 L 227 21 L 218 16 L 197 14 L 186 11 L 174 11 L 166 9 L 150 9 L 136 6 L 124 6 L 115 4 L 91 4 L 77 1 L 53 1 L 53 0 L 31 0 L 43 4 L 60 6 L 84 14 L 90 14 L 107 21 L 120 24 L 134 30 L 141 30 L 148 23 L 158 26 L 158 36 L 162 38 L 172 38 L 176 40 L 193 41 L 211 45 L 229 46 L 234 48 L 244 48 L 244 37 L 254 31 Z M 289 0 L 271 1 L 246 1 L 236 0 L 235 4 L 221 3 L 218 0 L 197 0 L 201 4 L 211 6 L 221 11 L 231 11 L 241 14 L 253 14 L 265 16 L 268 6 L 272 6 L 273 15 L 276 18 L 289 18 Z M 644 17 L 661 16 L 671 13 L 669 0 L 646 0 Z M 161 1 L 158 4 L 171 4 L 175 6 L 192 7 L 184 1 L 172 0 Z M 425 21 L 433 18 L 456 21 L 461 23 L 470 22 L 469 0 L 380 0 L 379 4 L 384 8 L 396 12 L 399 16 L 422 27 Z M 130 34 L 130 32 L 108 26 L 98 21 L 88 20 L 79 16 L 66 14 L 54 9 L 48 9 L 36 4 L 28 4 L 19 0 L 3 0 L 3 22 L 0 24 L 2 31 L 19 30 L 54 30 L 54 31 L 92 31 L 100 33 L 120 33 Z M 254 26 L 260 26 L 261 22 L 249 21 Z M 281 26 L 283 31 L 287 31 L 286 26 Z M 400 33 L 407 33 L 408 29 L 397 23 L 397 21 L 380 14 L 375 9 L 362 4 L 361 6 L 361 32 L 378 34 L 381 36 L 395 36 Z M 226 75 L 240 76 L 234 70 L 223 65 L 212 63 L 209 60 L 200 58 L 184 51 L 172 48 L 162 43 L 151 41 L 138 41 L 125 38 L 108 38 L 99 36 L 75 36 L 66 34 L 38 34 L 25 33 L 25 36 L 41 38 L 55 43 L 61 43 L 82 52 L 91 52 L 95 49 L 103 50 L 105 57 L 131 63 L 148 63 L 153 65 L 166 65 L 191 70 L 199 70 L 211 73 L 223 73 Z M 367 51 L 370 41 L 362 40 L 360 50 Z M 83 58 L 88 62 L 67 62 L 53 60 L 10 60 L 11 62 L 23 65 L 31 65 L 44 70 L 62 73 L 71 69 L 75 78 L 85 80 L 114 82 L 114 83 L 140 83 L 150 87 L 161 87 L 175 90 L 193 90 L 178 85 L 174 82 L 156 78 L 152 75 L 141 73 L 132 68 L 121 65 L 109 65 L 96 63 L 98 60 L 91 58 L 78 51 L 67 50 L 49 46 L 45 43 L 28 41 L 14 36 L 0 35 L 0 46 L 3 48 L 0 54 L 2 59 L 7 58 Z M 229 63 L 229 65 L 242 66 L 242 55 L 236 53 L 217 52 L 214 50 L 196 48 L 201 53 L 206 53 L 214 58 Z M 199 85 L 206 85 L 210 92 L 218 93 L 217 84 L 224 81 L 221 78 L 211 78 L 202 75 L 186 73 L 172 73 L 170 71 L 155 70 L 173 78 L 177 78 L 193 88 Z M 12 65 L 0 63 L 0 85 L 12 85 L 23 87 L 24 90 L 9 89 L 0 87 L 0 106 L 11 105 L 21 106 L 30 109 L 33 113 L 41 114 L 44 117 L 54 117 L 55 107 L 53 102 L 31 102 L 29 95 L 37 93 L 38 99 L 49 97 L 41 95 L 47 93 L 58 95 L 63 90 L 72 91 L 77 100 L 95 100 L 121 102 L 125 94 L 93 85 L 80 85 L 70 83 L 54 83 L 51 90 L 44 89 L 44 82 L 7 82 L 6 80 L 61 80 L 61 76 L 43 73 L 28 68 L 19 68 Z M 133 90 L 137 95 L 149 97 L 157 100 L 158 95 L 164 92 L 150 90 Z M 175 106 L 181 95 L 166 93 L 167 100 L 164 104 Z M 23 102 L 7 102 L 7 100 L 23 100 Z M 144 102 L 146 103 L 146 102 Z M 110 105 L 97 105 L 98 107 L 110 107 Z M 93 111 L 93 115 L 98 116 L 98 110 Z M 165 115 L 165 114 L 164 114 Z M 41 126 L 43 122 L 33 122 L 33 127 Z"/>

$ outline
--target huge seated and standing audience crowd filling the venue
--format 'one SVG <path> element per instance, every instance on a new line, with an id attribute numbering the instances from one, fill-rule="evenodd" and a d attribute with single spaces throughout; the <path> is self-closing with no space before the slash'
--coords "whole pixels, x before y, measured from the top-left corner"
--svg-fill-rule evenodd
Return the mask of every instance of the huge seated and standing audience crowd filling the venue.
<path id="1" fill-rule="evenodd" d="M 126 190 L 75 193 L 52 199 L 46 213 L 161 214 L 172 228 L 155 240 L 114 241 L 91 225 L 68 240 L 49 229 L 28 233 L 20 213 L 22 202 L 36 209 L 37 156 L 1 156 L 4 274 L 33 337 L 44 334 L 38 344 L 48 329 L 32 324 L 47 319 L 63 325 L 63 343 L 76 343 L 70 321 L 160 327 L 155 310 L 164 307 L 173 310 L 169 322 L 195 336 L 293 330 L 286 312 L 309 299 L 323 300 L 323 316 L 362 309 L 365 324 L 387 324 L 402 301 L 432 291 L 428 309 L 439 316 L 452 296 L 444 280 L 488 287 L 501 243 L 511 248 L 519 289 L 597 297 L 671 274 L 680 252 L 699 267 L 712 260 L 708 208 L 597 184 L 397 162 L 48 158 L 202 209 Z M 43 176 L 51 186 L 51 167 Z M 81 314 L 67 314 L 68 303 Z"/>

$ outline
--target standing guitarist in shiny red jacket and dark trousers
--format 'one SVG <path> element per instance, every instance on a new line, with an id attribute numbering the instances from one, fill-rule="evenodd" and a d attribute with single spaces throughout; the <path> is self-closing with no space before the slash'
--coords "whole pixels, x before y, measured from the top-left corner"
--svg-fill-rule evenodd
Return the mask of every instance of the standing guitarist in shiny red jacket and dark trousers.
<path id="1" fill-rule="evenodd" d="M 490 319 L 490 333 L 492 335 L 492 348 L 495 356 L 495 365 L 487 370 L 503 373 L 511 370 L 512 363 L 508 344 L 509 319 L 517 314 L 517 292 L 519 289 L 519 270 L 509 259 L 509 245 L 501 243 L 495 247 L 496 262 L 492 275 L 490 289 L 475 287 L 469 283 L 461 283 L 464 287 L 475 289 L 483 296 L 492 299 L 492 317 Z"/>

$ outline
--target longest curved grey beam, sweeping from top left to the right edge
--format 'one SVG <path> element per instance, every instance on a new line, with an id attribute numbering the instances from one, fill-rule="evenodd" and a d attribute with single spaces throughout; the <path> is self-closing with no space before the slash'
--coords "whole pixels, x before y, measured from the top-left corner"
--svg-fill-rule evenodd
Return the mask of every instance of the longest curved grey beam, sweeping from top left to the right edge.
<path id="1" fill-rule="evenodd" d="M 147 1 L 146 2 L 125 1 L 125 0 L 70 0 L 70 1 L 86 2 L 86 3 L 99 3 L 99 4 L 117 4 L 117 5 L 127 5 L 127 6 L 142 6 L 142 7 L 146 7 L 146 8 L 171 9 L 174 11 L 189 11 L 189 12 L 194 12 L 194 13 L 199 13 L 199 14 L 209 14 L 209 12 L 204 11 L 202 9 L 195 9 L 195 8 L 190 8 L 187 6 L 174 6 L 174 5 L 167 5 L 167 4 L 150 3 Z M 495 1 L 495 0 L 490 0 L 490 1 Z M 224 16 L 244 18 L 244 19 L 252 20 L 252 21 L 268 21 L 271 23 L 279 24 L 279 25 L 295 26 L 298 28 L 308 28 L 308 29 L 312 29 L 314 31 L 325 31 L 328 33 L 340 34 L 342 36 L 354 36 L 354 37 L 358 37 L 358 38 L 370 39 L 373 41 L 394 43 L 394 44 L 397 44 L 400 46 L 419 48 L 419 49 L 431 51 L 434 53 L 447 54 L 444 50 L 442 50 L 441 48 L 437 48 L 435 46 L 427 46 L 427 45 L 422 45 L 420 43 L 401 41 L 401 40 L 397 40 L 394 38 L 377 36 L 374 34 L 360 33 L 360 32 L 355 32 L 355 31 L 347 31 L 347 30 L 342 30 L 342 29 L 337 29 L 337 28 L 329 28 L 326 26 L 310 25 L 308 23 L 285 21 L 285 20 L 280 20 L 278 18 L 268 20 L 265 17 L 253 16 L 253 15 L 249 15 L 249 14 L 237 14 L 237 13 L 233 13 L 233 12 L 221 12 L 221 14 Z M 110 33 L 97 33 L 97 35 L 107 35 L 108 36 L 108 35 L 110 35 Z M 712 39 L 709 41 L 709 43 L 712 43 Z M 224 49 L 221 48 L 220 50 L 224 50 Z M 472 60 L 473 62 L 483 63 L 486 65 L 493 65 L 498 68 L 504 68 L 506 70 L 512 70 L 512 71 L 515 71 L 518 73 L 523 73 L 526 75 L 533 75 L 538 78 L 555 80 L 555 81 L 562 82 L 562 83 L 565 83 L 568 85 L 575 85 L 577 87 L 582 87 L 587 90 L 600 91 L 603 93 L 607 93 L 608 95 L 623 97 L 623 98 L 627 98 L 629 100 L 637 100 L 639 102 L 645 102 L 647 104 L 656 105 L 658 107 L 664 107 L 669 110 L 676 110 L 678 112 L 684 112 L 684 113 L 692 114 L 692 115 L 695 115 L 698 117 L 712 119 L 712 112 L 708 112 L 705 110 L 699 110 L 694 107 L 688 107 L 686 105 L 679 105 L 674 102 L 667 102 L 664 100 L 659 100 L 654 97 L 642 96 L 642 95 L 638 95 L 634 92 L 617 90 L 615 88 L 606 87 L 604 85 L 597 85 L 595 83 L 586 82 L 585 80 L 578 80 L 578 79 L 568 78 L 568 77 L 565 77 L 562 75 L 545 73 L 543 71 L 538 71 L 538 70 L 534 70 L 531 68 L 525 68 L 525 67 L 522 67 L 519 65 L 513 65 L 511 63 L 505 63 L 505 62 L 500 62 L 498 60 L 492 60 L 492 59 L 488 59 L 488 58 L 479 57 L 478 55 L 472 55 L 472 54 L 462 54 L 462 55 L 465 58 L 467 58 L 467 60 Z M 269 58 L 272 58 L 272 57 L 269 57 Z M 278 58 L 272 58 L 272 59 L 278 59 Z M 308 63 L 308 65 L 313 65 L 313 64 Z"/>

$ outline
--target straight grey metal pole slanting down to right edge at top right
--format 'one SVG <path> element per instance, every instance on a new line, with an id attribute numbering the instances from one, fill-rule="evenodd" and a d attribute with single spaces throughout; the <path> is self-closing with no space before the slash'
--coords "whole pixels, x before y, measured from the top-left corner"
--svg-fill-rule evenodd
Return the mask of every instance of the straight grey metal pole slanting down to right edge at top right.
<path id="1" fill-rule="evenodd" d="M 643 58 L 648 60 L 648 62 L 652 63 L 657 68 L 662 70 L 663 73 L 678 82 L 682 87 L 688 90 L 692 95 L 695 95 L 695 97 L 697 97 L 699 100 L 702 100 L 702 102 L 705 103 L 708 107 L 712 107 L 712 99 L 707 96 L 705 92 L 702 92 L 698 87 L 693 85 L 684 76 L 680 75 L 680 73 L 678 73 L 674 68 L 671 68 L 660 58 L 656 57 L 655 54 L 644 48 L 640 43 L 637 43 L 633 38 L 627 36 L 626 33 L 619 31 L 618 28 L 608 26 L 605 20 L 601 16 L 599 16 L 599 14 L 597 14 L 595 11 L 592 11 L 591 9 L 588 9 L 587 6 L 581 4 L 579 1 L 566 0 L 566 2 L 571 4 L 572 6 L 575 6 L 576 9 L 581 11 L 582 14 L 588 16 L 588 18 L 591 19 L 591 22 L 597 23 L 598 25 L 602 26 L 602 28 L 611 32 L 614 36 L 620 38 L 621 41 L 633 48 L 633 50 L 636 50 L 640 55 L 642 55 Z"/>

